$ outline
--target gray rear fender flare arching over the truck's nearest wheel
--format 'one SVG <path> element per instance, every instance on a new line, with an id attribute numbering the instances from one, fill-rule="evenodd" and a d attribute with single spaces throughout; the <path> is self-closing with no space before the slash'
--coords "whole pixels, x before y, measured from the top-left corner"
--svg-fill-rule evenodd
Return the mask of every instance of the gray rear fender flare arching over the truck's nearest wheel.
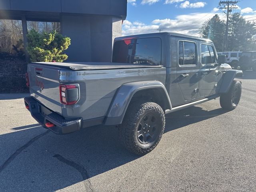
<path id="1" fill-rule="evenodd" d="M 164 96 L 166 109 L 172 109 L 172 104 L 168 92 L 160 81 L 140 81 L 123 84 L 116 92 L 110 105 L 107 116 L 104 120 L 105 125 L 121 124 L 134 94 L 140 90 L 159 89 L 159 94 Z"/>

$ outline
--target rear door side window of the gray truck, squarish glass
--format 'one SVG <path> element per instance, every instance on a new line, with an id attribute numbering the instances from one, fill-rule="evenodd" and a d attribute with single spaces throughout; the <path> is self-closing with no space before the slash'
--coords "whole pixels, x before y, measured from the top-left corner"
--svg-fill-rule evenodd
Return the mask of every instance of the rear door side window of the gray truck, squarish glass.
<path id="1" fill-rule="evenodd" d="M 179 65 L 196 65 L 196 43 L 179 41 Z"/>

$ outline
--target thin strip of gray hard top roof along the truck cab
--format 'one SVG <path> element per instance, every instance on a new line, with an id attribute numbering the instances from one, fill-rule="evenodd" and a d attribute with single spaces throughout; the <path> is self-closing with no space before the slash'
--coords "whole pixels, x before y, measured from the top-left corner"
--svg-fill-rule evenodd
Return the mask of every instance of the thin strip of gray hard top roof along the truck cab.
<path id="1" fill-rule="evenodd" d="M 196 36 L 192 36 L 192 35 L 185 35 L 185 34 L 180 34 L 180 33 L 171 33 L 171 32 L 130 35 L 130 36 L 118 37 L 115 40 L 122 40 L 122 39 L 125 39 L 125 38 L 163 37 L 163 36 L 175 36 L 175 37 L 195 39 L 195 40 L 201 40 L 201 41 L 206 41 L 206 42 L 211 42 L 212 43 L 212 41 L 210 39 L 206 39 L 206 38 L 202 38 L 202 37 L 196 37 Z"/>

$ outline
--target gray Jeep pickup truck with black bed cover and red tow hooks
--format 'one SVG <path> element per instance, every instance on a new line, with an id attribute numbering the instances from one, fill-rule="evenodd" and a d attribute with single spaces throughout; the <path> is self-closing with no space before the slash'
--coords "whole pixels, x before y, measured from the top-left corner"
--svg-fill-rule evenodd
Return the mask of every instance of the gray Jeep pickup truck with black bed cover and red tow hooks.
<path id="1" fill-rule="evenodd" d="M 103 51 L 103 50 L 101 50 Z M 56 134 L 116 125 L 135 154 L 152 151 L 165 114 L 220 97 L 225 110 L 240 101 L 241 70 L 224 64 L 212 41 L 176 33 L 116 38 L 112 62 L 28 64 L 24 98 L 31 115 Z"/>

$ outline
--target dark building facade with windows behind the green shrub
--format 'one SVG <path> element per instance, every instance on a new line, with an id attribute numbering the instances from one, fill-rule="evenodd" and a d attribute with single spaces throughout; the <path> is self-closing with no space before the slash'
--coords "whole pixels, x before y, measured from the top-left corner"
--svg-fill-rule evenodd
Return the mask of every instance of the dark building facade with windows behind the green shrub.
<path id="1" fill-rule="evenodd" d="M 67 62 L 108 62 L 126 10 L 127 0 L 0 0 L 0 51 L 15 41 L 26 47 L 31 29 L 56 30 L 71 38 Z"/>

